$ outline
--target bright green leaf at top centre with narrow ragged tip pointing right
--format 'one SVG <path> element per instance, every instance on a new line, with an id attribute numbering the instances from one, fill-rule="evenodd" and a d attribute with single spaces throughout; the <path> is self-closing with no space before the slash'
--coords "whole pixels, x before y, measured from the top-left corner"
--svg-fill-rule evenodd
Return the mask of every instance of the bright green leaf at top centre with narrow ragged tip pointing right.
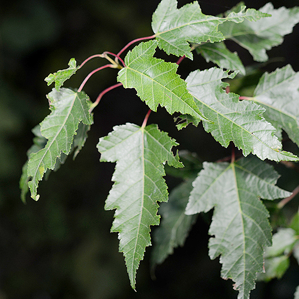
<path id="1" fill-rule="evenodd" d="M 242 22 L 267 16 L 255 9 L 245 10 L 242 6 L 239 12 L 232 11 L 226 17 L 205 15 L 201 12 L 197 1 L 177 9 L 176 0 L 162 0 L 152 15 L 151 27 L 159 48 L 167 54 L 183 56 L 192 59 L 187 41 L 194 43 L 215 42 L 224 39 L 218 30 L 218 25 L 225 21 Z"/>

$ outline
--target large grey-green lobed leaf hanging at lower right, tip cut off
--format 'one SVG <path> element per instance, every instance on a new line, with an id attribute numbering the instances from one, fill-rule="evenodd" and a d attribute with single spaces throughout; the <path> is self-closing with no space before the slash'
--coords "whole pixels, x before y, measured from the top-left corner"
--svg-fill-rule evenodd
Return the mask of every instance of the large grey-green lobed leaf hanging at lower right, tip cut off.
<path id="1" fill-rule="evenodd" d="M 263 271 L 263 247 L 271 246 L 269 212 L 260 198 L 276 199 L 291 193 L 277 187 L 274 168 L 249 156 L 234 163 L 203 163 L 193 182 L 186 214 L 214 208 L 209 256 L 221 255 L 221 276 L 235 282 L 238 299 L 248 299 L 256 273 Z"/>

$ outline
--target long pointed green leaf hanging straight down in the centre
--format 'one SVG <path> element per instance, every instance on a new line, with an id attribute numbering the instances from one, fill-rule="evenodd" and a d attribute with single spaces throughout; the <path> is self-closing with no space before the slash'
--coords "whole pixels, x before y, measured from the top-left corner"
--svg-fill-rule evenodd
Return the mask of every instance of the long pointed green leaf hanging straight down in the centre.
<path id="1" fill-rule="evenodd" d="M 159 224 L 157 201 L 167 201 L 162 163 L 182 167 L 171 148 L 177 143 L 156 125 L 141 128 L 126 124 L 114 127 L 97 145 L 101 161 L 115 162 L 115 181 L 105 209 L 117 209 L 111 228 L 119 232 L 120 252 L 124 253 L 131 286 L 145 248 L 150 244 L 150 225 Z"/>

